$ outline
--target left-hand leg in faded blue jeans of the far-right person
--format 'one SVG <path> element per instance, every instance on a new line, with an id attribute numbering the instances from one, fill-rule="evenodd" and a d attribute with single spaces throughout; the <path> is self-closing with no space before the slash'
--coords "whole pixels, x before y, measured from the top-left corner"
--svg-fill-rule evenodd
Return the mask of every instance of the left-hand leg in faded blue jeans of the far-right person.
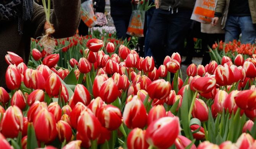
<path id="1" fill-rule="evenodd" d="M 238 40 L 241 33 L 241 29 L 238 25 L 237 16 L 228 16 L 225 24 L 225 42 L 232 42 L 234 39 Z"/>

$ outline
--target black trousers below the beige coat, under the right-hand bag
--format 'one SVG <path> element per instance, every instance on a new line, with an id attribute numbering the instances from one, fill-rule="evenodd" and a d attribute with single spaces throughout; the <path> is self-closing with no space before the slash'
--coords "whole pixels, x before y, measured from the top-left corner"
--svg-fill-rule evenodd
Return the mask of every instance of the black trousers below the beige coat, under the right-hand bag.
<path id="1" fill-rule="evenodd" d="M 224 42 L 224 39 L 225 39 L 225 34 L 203 33 L 203 39 L 202 39 L 202 50 L 204 50 L 203 61 L 202 61 L 203 66 L 206 66 L 206 64 L 209 64 L 209 62 L 211 61 L 208 45 L 210 46 L 210 48 L 212 48 L 212 45 L 215 42 L 218 42 L 218 40 L 219 41 L 222 40 Z"/>

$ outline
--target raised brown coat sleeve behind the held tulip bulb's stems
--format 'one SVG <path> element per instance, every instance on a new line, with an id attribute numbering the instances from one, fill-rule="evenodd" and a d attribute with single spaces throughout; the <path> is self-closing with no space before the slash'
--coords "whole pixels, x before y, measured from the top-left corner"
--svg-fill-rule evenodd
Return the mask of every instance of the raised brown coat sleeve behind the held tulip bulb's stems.
<path id="1" fill-rule="evenodd" d="M 53 24 L 54 38 L 65 38 L 75 35 L 81 20 L 81 0 L 53 0 L 53 10 L 50 13 L 50 23 Z M 34 3 L 30 24 L 33 38 L 45 34 L 45 12 L 43 6 Z"/>

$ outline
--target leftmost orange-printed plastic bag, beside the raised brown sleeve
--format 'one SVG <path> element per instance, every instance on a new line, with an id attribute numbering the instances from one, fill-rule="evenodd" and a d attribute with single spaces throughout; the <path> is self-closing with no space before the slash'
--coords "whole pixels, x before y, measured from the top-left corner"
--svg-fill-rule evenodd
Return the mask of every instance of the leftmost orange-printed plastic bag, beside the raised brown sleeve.
<path id="1" fill-rule="evenodd" d="M 91 0 L 81 4 L 81 19 L 89 28 L 94 27 L 98 23 L 92 9 Z"/>

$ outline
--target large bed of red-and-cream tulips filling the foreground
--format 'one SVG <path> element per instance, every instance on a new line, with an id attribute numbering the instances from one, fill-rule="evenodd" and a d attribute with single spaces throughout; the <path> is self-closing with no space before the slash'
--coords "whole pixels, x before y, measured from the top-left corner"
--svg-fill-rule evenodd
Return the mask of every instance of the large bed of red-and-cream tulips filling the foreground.
<path id="1" fill-rule="evenodd" d="M 56 40 L 54 54 L 32 40 L 28 66 L 8 52 L 0 149 L 256 149 L 256 55 L 191 64 L 183 82 L 178 53 L 157 69 L 104 38 Z"/>

